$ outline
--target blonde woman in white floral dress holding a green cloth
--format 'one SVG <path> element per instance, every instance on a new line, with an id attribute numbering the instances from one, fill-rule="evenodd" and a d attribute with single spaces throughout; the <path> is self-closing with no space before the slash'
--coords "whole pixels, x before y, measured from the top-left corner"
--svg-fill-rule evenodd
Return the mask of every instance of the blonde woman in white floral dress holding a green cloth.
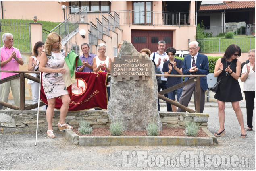
<path id="1" fill-rule="evenodd" d="M 45 49 L 41 54 L 39 70 L 42 74 L 42 85 L 46 94 L 48 108 L 46 110 L 46 120 L 48 123 L 47 136 L 55 138 L 52 132 L 52 118 L 54 115 L 55 98 L 60 97 L 62 106 L 60 108 L 60 120 L 58 128 L 62 130 L 72 130 L 72 126 L 65 123 L 65 118 L 69 109 L 70 97 L 67 91 L 62 74 L 67 70 L 63 68 L 65 51 L 61 49 L 61 37 L 57 33 L 50 33 L 45 42 Z"/>

